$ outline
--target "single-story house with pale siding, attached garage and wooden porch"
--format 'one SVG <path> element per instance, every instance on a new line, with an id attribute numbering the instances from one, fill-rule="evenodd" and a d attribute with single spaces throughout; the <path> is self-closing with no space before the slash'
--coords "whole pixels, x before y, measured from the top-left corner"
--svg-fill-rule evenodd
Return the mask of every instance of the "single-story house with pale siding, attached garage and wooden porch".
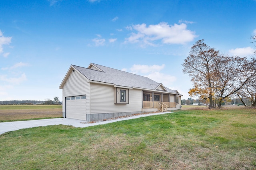
<path id="1" fill-rule="evenodd" d="M 84 121 L 176 110 L 182 96 L 147 77 L 94 63 L 71 65 L 59 88 L 63 117 Z"/>

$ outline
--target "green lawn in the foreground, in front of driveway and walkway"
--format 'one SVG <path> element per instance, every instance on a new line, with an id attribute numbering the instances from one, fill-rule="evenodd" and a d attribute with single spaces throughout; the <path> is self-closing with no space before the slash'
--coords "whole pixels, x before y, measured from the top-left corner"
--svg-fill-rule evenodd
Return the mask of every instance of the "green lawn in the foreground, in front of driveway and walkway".
<path id="1" fill-rule="evenodd" d="M 0 135 L 0 169 L 256 169 L 256 110 L 186 110 Z"/>

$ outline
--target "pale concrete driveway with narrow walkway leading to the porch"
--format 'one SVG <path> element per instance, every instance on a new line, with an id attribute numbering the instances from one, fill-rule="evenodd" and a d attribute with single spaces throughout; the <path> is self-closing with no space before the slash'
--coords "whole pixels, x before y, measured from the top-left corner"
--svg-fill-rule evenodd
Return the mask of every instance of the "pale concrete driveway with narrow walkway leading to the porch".
<path id="1" fill-rule="evenodd" d="M 152 115 L 162 115 L 166 113 L 173 113 L 173 112 L 162 112 L 162 113 L 152 113 L 146 115 L 137 115 L 132 117 L 125 117 L 122 119 L 114 119 L 110 121 L 103 121 L 97 123 L 90 123 L 86 124 L 86 121 L 81 121 L 77 119 L 69 119 L 69 118 L 55 118 L 55 119 L 41 119 L 41 120 L 33 120 L 33 121 L 16 121 L 16 122 L 4 122 L 0 123 L 0 134 L 5 132 L 19 130 L 22 128 L 32 128 L 32 127 L 44 127 L 48 125 L 71 125 L 73 127 L 90 127 L 95 125 L 103 125 L 107 123 L 113 123 L 117 121 L 124 121 L 129 119 L 136 119 L 139 117 L 147 117 Z"/>

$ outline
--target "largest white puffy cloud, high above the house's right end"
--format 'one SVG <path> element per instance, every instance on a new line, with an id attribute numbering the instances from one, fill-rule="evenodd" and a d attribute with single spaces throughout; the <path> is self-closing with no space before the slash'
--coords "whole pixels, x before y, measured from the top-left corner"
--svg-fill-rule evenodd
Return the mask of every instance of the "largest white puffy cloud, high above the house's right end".
<path id="1" fill-rule="evenodd" d="M 132 33 L 129 38 L 126 38 L 125 43 L 142 43 L 144 45 L 153 45 L 157 40 L 161 40 L 164 44 L 185 44 L 196 38 L 195 32 L 187 30 L 187 25 L 174 24 L 170 26 L 166 22 L 161 22 L 157 25 L 137 24 L 126 27 L 137 31 Z"/>

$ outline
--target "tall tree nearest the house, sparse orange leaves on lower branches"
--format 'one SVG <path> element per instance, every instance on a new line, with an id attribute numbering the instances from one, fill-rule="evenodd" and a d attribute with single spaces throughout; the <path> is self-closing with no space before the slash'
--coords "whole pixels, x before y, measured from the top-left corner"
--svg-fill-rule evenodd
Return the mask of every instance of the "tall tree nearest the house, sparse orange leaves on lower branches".
<path id="1" fill-rule="evenodd" d="M 190 95 L 209 99 L 209 108 L 214 107 L 213 86 L 219 57 L 219 51 L 206 45 L 204 40 L 199 40 L 191 47 L 189 56 L 182 64 L 183 73 L 188 73 L 194 83 L 194 88 L 190 89 Z"/>

